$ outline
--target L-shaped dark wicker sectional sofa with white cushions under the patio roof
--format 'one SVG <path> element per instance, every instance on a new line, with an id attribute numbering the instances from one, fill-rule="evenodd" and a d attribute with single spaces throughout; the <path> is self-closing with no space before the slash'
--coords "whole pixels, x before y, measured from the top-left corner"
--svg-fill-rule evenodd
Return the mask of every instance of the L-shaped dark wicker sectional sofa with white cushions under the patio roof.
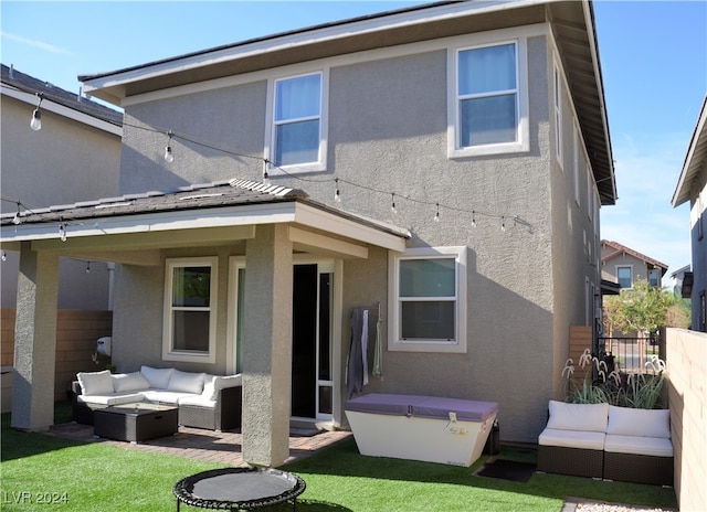
<path id="1" fill-rule="evenodd" d="M 93 425 L 110 405 L 156 402 L 179 408 L 179 425 L 210 430 L 241 427 L 241 375 L 210 375 L 143 366 L 139 372 L 81 372 L 72 383 L 73 420 Z"/>

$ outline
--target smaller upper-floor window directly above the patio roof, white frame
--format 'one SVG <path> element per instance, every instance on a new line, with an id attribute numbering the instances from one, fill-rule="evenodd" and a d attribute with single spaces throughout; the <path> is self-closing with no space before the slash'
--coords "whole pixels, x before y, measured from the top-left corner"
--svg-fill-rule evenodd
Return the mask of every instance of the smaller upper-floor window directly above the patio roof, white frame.
<path id="1" fill-rule="evenodd" d="M 324 170 L 325 86 L 321 72 L 274 81 L 268 145 L 274 166 L 288 172 Z"/>

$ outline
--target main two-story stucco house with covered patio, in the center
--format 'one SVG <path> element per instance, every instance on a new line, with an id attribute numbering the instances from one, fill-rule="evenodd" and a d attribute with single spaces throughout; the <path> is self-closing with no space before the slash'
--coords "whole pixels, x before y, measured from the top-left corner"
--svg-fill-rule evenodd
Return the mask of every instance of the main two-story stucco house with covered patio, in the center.
<path id="1" fill-rule="evenodd" d="M 2 218 L 24 298 L 55 307 L 55 255 L 116 262 L 115 364 L 242 372 L 252 463 L 287 458 L 292 418 L 346 428 L 356 308 L 369 362 L 381 331 L 363 392 L 498 402 L 502 438 L 536 442 L 616 199 L 593 23 L 439 2 L 82 76 L 125 109 L 124 195 Z M 18 322 L 49 366 L 51 326 Z M 51 423 L 18 371 L 13 424 Z"/>

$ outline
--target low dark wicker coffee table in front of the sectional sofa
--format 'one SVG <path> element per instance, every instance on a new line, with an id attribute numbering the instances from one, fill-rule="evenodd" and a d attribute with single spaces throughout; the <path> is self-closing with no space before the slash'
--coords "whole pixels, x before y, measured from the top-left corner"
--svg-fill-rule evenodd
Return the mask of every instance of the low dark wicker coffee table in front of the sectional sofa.
<path id="1" fill-rule="evenodd" d="M 126 404 L 94 410 L 94 435 L 119 441 L 145 441 L 177 434 L 178 409 L 154 404 Z"/>

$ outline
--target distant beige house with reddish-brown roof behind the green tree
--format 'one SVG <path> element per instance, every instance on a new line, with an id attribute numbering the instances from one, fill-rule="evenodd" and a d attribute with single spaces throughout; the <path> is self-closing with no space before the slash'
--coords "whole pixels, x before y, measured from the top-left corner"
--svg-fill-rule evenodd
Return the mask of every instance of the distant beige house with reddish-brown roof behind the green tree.
<path id="1" fill-rule="evenodd" d="M 601 277 L 618 282 L 620 288 L 633 288 L 636 280 L 661 288 L 667 265 L 618 242 L 601 241 Z"/>

